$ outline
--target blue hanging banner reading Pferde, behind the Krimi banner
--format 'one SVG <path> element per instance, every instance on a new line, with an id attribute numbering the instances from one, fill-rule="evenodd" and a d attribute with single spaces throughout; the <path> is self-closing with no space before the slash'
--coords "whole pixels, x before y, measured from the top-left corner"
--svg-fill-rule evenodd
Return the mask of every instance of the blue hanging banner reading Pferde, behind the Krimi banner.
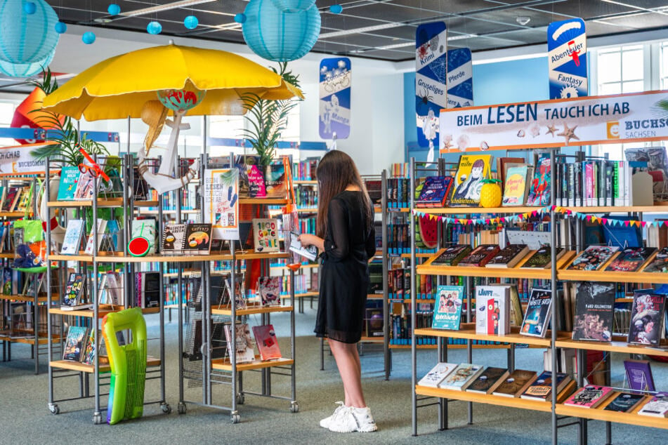
<path id="1" fill-rule="evenodd" d="M 473 107 L 473 62 L 469 48 L 447 51 L 447 106 Z"/>

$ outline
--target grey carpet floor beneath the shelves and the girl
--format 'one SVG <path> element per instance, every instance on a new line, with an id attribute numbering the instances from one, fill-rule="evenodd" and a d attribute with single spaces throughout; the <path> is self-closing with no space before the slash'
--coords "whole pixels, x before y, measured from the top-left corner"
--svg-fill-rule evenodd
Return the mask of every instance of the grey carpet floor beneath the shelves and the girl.
<path id="1" fill-rule="evenodd" d="M 240 406 L 241 423 L 233 425 L 227 411 L 217 411 L 190 404 L 188 413 L 176 413 L 178 402 L 178 368 L 176 357 L 176 314 L 166 327 L 166 393 L 171 414 L 163 414 L 158 405 L 145 406 L 144 417 L 118 425 L 93 425 L 93 401 L 60 403 L 60 414 L 47 409 L 46 366 L 39 376 L 32 372 L 30 350 L 13 345 L 12 361 L 0 362 L 0 444 L 547 444 L 551 441 L 550 416 L 520 409 L 506 409 L 483 404 L 473 405 L 473 425 L 466 424 L 466 403 L 450 403 L 450 429 L 438 431 L 435 407 L 419 409 L 418 437 L 411 436 L 410 350 L 393 353 L 391 379 L 384 379 L 383 355 L 365 348 L 362 354 L 362 379 L 379 431 L 374 433 L 337 434 L 319 427 L 321 418 L 329 416 L 334 401 L 341 400 L 343 390 L 334 359 L 325 355 L 325 371 L 320 371 L 320 341 L 311 331 L 315 310 L 306 305 L 304 314 L 296 314 L 297 400 L 299 413 L 290 413 L 289 403 L 277 399 L 248 395 Z M 284 355 L 289 351 L 287 314 L 275 314 L 273 324 L 282 338 Z M 148 316 L 150 337 L 157 333 L 157 316 Z M 155 345 L 153 346 L 156 347 Z M 151 353 L 151 350 L 150 350 Z M 153 350 L 153 354 L 156 351 Z M 542 350 L 518 350 L 518 368 L 542 370 Z M 450 352 L 450 361 L 466 361 L 466 351 Z M 613 385 L 623 380 L 622 355 L 613 356 Z M 46 362 L 46 357 L 43 359 Z M 473 361 L 486 366 L 506 366 L 504 350 L 474 350 Z M 435 351 L 419 351 L 418 372 L 424 375 L 435 363 Z M 668 390 L 668 365 L 653 363 L 659 389 Z M 78 394 L 76 378 L 56 380 L 56 396 Z M 259 390 L 255 373 L 244 376 L 247 390 Z M 289 395 L 289 378 L 273 378 L 273 390 Z M 147 383 L 146 399 L 157 399 L 155 381 Z M 216 385 L 214 403 L 229 406 L 230 387 Z M 186 390 L 186 399 L 201 400 L 202 390 Z M 103 397 L 103 406 L 106 397 Z M 560 444 L 577 443 L 575 427 L 559 430 Z M 589 441 L 605 441 L 604 424 L 589 423 Z M 668 432 L 633 425 L 613 425 L 613 443 L 665 444 Z"/>

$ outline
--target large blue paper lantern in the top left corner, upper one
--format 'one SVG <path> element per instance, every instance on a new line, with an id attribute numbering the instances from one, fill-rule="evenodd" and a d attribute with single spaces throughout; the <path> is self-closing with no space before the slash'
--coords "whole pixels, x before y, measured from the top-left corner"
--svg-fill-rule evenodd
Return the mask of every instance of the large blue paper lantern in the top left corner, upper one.
<path id="1" fill-rule="evenodd" d="M 32 4 L 35 13 L 27 15 L 23 0 L 0 0 L 0 60 L 14 64 L 41 62 L 58 44 L 58 15 L 44 0 Z"/>

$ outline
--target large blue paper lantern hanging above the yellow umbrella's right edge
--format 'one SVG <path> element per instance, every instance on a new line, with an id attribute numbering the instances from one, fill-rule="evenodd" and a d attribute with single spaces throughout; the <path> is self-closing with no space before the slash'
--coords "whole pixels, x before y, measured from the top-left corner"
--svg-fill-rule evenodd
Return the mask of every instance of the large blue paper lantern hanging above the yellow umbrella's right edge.
<path id="1" fill-rule="evenodd" d="M 312 5 L 299 13 L 284 13 L 272 0 L 251 0 L 246 6 L 244 40 L 261 58 L 287 62 L 302 58 L 320 34 L 320 11 Z"/>

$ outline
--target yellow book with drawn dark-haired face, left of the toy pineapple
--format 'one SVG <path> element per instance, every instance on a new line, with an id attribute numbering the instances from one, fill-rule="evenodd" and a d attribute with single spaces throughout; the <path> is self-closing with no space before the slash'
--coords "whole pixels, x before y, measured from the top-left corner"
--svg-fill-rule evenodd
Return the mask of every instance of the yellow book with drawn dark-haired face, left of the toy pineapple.
<path id="1" fill-rule="evenodd" d="M 483 180 L 490 178 L 492 155 L 462 155 L 452 185 L 451 206 L 479 206 Z"/>

